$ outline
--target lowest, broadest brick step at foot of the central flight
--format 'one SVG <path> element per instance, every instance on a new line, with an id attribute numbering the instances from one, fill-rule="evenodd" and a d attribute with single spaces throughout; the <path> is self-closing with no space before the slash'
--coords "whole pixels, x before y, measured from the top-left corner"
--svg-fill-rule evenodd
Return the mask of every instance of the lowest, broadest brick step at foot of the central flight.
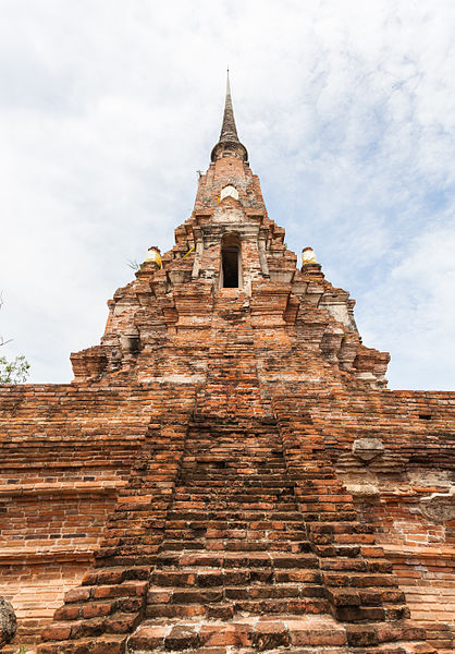
<path id="1" fill-rule="evenodd" d="M 235 621 L 177 621 L 163 625 L 161 621 L 143 622 L 128 638 L 128 654 L 136 652 L 176 651 L 194 652 L 199 649 L 220 653 L 226 649 L 242 652 L 294 650 L 302 653 L 302 646 L 317 646 L 315 652 L 325 650 L 327 654 L 342 654 L 345 647 L 345 629 L 328 615 L 284 616 L 278 619 L 249 618 Z M 332 650 L 336 647 L 336 650 Z"/>

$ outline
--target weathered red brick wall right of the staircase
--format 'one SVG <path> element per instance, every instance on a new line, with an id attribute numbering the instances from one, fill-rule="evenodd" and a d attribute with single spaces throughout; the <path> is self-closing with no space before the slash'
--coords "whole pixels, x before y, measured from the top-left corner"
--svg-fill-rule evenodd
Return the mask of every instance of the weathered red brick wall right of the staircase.
<path id="1" fill-rule="evenodd" d="M 447 509 L 454 504 L 453 408 L 453 393 L 421 391 L 329 395 L 309 408 L 360 520 L 376 528 L 411 618 L 447 654 L 455 647 L 455 516 Z M 353 452 L 365 437 L 384 445 L 370 462 Z M 432 497 L 436 505 L 446 498 L 446 510 L 431 512 Z"/>

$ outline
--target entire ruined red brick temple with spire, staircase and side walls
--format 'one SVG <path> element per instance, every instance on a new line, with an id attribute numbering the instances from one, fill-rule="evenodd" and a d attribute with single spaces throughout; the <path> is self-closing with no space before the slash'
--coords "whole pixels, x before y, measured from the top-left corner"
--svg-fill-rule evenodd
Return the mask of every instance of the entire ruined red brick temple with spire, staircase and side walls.
<path id="1" fill-rule="evenodd" d="M 283 240 L 228 81 L 175 245 L 72 384 L 0 387 L 4 652 L 454 652 L 455 393 L 388 390 Z"/>

